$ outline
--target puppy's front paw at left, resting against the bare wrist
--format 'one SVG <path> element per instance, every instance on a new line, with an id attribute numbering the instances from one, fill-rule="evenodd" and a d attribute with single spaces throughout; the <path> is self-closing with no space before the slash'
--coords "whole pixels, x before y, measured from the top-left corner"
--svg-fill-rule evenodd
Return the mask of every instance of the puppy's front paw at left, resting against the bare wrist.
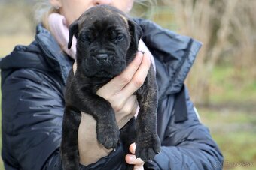
<path id="1" fill-rule="evenodd" d="M 105 148 L 116 148 L 120 142 L 120 131 L 114 124 L 98 124 L 97 139 Z"/>

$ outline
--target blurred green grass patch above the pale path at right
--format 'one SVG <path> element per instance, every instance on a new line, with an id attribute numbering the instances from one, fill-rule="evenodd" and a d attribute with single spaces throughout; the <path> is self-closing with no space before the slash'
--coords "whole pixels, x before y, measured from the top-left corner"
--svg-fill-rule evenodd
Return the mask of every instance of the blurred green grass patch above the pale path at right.
<path id="1" fill-rule="evenodd" d="M 211 103 L 252 104 L 256 101 L 256 79 L 248 78 L 248 70 L 238 70 L 232 65 L 215 67 L 211 77 Z"/>

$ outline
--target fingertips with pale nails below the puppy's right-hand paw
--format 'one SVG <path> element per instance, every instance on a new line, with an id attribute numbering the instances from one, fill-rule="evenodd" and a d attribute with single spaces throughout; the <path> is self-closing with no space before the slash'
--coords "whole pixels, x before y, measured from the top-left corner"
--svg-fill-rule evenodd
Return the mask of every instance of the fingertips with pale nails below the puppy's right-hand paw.
<path id="1" fill-rule="evenodd" d="M 134 165 L 133 170 L 143 170 L 144 161 L 140 158 L 136 158 L 135 150 L 136 150 L 136 144 L 132 143 L 129 147 L 129 151 L 132 154 L 126 154 L 125 161 L 128 164 Z"/>

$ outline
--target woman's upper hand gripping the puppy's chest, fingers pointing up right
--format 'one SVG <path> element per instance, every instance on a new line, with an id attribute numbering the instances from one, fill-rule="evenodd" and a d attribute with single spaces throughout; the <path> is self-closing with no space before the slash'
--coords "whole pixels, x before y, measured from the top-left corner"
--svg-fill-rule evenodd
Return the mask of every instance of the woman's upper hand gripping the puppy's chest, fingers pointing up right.
<path id="1" fill-rule="evenodd" d="M 100 97 L 111 103 L 116 113 L 117 125 L 122 128 L 136 114 L 139 106 L 133 95 L 144 83 L 150 68 L 150 56 L 138 52 L 128 67 L 97 91 Z"/>

